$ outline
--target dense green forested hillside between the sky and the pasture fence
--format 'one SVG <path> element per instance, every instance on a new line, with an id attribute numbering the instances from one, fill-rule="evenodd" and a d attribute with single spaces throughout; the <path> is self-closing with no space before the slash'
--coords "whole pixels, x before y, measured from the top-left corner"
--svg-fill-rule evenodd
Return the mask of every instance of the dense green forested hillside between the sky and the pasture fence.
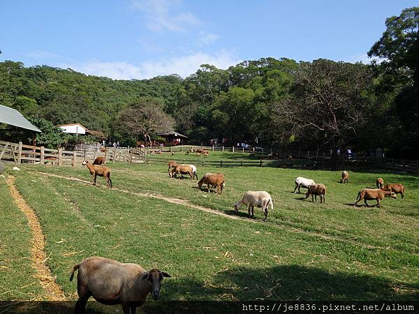
<path id="1" fill-rule="evenodd" d="M 155 137 L 175 128 L 193 143 L 226 139 L 264 147 L 383 147 L 388 156 L 418 156 L 419 8 L 386 21 L 369 56 L 381 63 L 297 62 L 263 58 L 221 70 L 204 64 L 186 78 L 111 80 L 49 66 L 0 63 L 0 103 L 53 124 L 80 123 L 110 140 Z M 127 124 L 138 108 L 164 128 Z M 136 111 L 135 111 L 135 108 Z M 157 111 L 156 111 L 157 110 Z M 148 113 L 147 113 L 147 112 Z"/>

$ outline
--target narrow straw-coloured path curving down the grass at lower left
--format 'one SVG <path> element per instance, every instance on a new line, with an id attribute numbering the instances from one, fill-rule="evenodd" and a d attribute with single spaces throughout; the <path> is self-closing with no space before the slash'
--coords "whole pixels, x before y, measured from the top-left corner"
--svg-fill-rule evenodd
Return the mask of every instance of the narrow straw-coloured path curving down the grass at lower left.
<path id="1" fill-rule="evenodd" d="M 45 255 L 45 237 L 38 217 L 17 190 L 15 186 L 15 177 L 9 176 L 7 184 L 15 204 L 27 217 L 29 226 L 32 230 L 31 262 L 32 267 L 36 271 L 35 277 L 38 278 L 41 286 L 45 290 L 45 297 L 47 300 L 64 301 L 66 299 L 64 292 L 55 282 L 55 277 L 52 276 L 50 269 L 45 265 L 45 261 L 48 257 Z"/>

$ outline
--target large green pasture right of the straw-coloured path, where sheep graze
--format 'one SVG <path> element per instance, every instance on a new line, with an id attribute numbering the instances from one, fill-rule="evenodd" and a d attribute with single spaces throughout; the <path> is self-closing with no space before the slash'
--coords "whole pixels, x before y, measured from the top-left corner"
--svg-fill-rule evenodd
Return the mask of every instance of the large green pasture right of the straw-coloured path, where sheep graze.
<path id="1" fill-rule="evenodd" d="M 199 190 L 196 180 L 169 178 L 163 164 L 110 164 L 113 190 L 103 178 L 94 187 L 47 175 L 90 181 L 85 167 L 22 166 L 15 174 L 17 188 L 38 215 L 47 264 L 68 299 L 76 298 L 69 269 L 91 255 L 164 269 L 173 278 L 163 282 L 163 300 L 418 299 L 418 177 L 350 172 L 344 185 L 338 171 L 196 165 L 199 177 L 225 174 L 223 195 Z M 293 194 L 297 176 L 325 184 L 326 203 Z M 406 197 L 385 199 L 381 209 L 350 206 L 376 177 L 405 184 Z M 233 211 L 246 190 L 272 195 L 267 223 L 260 209 L 255 220 L 244 207 Z M 135 193 L 177 197 L 241 219 Z M 17 209 L 7 210 L 22 220 Z M 27 230 L 24 223 L 9 227 Z M 27 243 L 25 233 L 20 241 Z M 22 273 L 22 282 L 29 277 Z"/>

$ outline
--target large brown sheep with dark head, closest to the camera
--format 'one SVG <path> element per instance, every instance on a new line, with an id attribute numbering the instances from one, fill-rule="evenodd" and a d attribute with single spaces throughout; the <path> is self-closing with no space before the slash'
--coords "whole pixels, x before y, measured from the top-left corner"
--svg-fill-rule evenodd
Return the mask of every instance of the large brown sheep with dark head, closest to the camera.
<path id="1" fill-rule="evenodd" d="M 115 305 L 122 304 L 124 314 L 135 314 L 150 293 L 154 300 L 160 297 L 161 281 L 169 274 L 159 269 L 145 271 L 138 264 L 124 264 L 104 257 L 87 257 L 71 270 L 70 281 L 74 272 L 77 274 L 78 301 L 75 313 L 84 313 L 87 300 Z"/>

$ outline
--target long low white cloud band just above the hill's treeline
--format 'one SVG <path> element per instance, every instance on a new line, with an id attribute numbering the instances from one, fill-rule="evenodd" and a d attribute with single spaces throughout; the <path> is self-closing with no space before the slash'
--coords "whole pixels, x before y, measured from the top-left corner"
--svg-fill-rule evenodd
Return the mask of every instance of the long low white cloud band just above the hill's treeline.
<path id="1" fill-rule="evenodd" d="M 122 62 L 102 62 L 98 60 L 82 64 L 62 64 L 62 68 L 72 68 L 87 75 L 110 77 L 115 80 L 147 79 L 158 75 L 177 74 L 187 77 L 200 67 L 209 63 L 217 68 L 228 68 L 241 62 L 228 52 L 219 52 L 214 55 L 205 53 L 190 54 L 184 57 L 173 57 L 166 60 L 145 61 L 137 65 Z"/>

